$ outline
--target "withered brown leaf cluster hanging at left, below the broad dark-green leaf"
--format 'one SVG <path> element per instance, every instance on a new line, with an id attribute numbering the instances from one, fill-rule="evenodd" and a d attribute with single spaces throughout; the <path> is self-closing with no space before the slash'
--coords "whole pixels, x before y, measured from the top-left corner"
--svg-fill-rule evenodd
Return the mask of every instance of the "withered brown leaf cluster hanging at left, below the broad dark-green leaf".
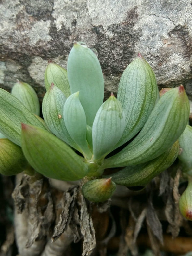
<path id="1" fill-rule="evenodd" d="M 44 239 L 53 222 L 53 202 L 48 179 L 23 175 L 12 194 L 17 214 L 27 216 L 26 248 L 35 241 Z"/>

